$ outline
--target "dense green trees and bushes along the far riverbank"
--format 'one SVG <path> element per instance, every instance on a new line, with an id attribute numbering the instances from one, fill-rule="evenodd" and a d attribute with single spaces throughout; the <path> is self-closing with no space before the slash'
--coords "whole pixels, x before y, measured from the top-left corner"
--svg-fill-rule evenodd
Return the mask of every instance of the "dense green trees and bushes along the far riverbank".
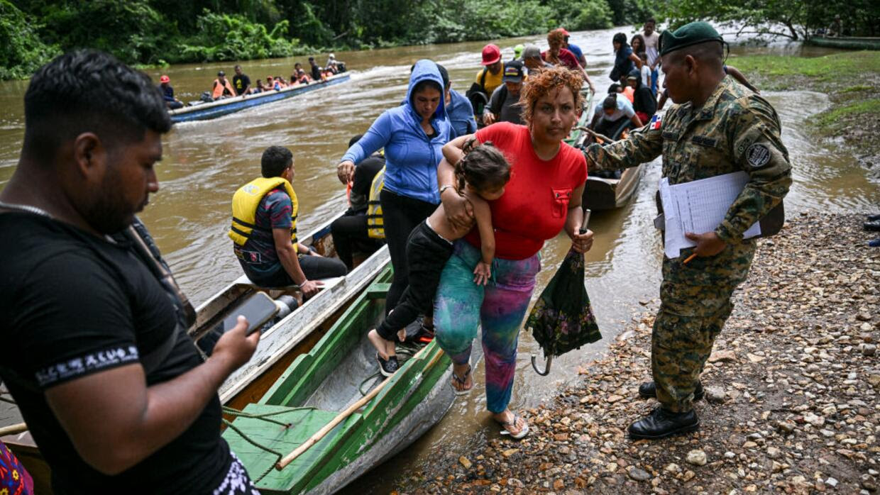
<path id="1" fill-rule="evenodd" d="M 599 29 L 650 16 L 671 25 L 736 21 L 797 38 L 840 14 L 848 34 L 876 35 L 878 11 L 876 0 L 0 0 L 0 79 L 26 77 L 77 47 L 161 65 Z"/>

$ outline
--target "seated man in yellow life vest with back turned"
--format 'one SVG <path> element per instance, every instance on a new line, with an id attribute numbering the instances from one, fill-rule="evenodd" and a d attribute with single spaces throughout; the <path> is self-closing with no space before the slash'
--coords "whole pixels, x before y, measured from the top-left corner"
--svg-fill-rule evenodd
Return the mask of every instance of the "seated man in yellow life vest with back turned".
<path id="1" fill-rule="evenodd" d="M 293 191 L 293 154 L 269 146 L 260 162 L 262 177 L 238 188 L 232 196 L 229 237 L 247 278 L 260 287 L 298 285 L 305 296 L 315 295 L 314 279 L 348 273 L 339 259 L 324 258 L 297 242 L 299 203 Z"/>

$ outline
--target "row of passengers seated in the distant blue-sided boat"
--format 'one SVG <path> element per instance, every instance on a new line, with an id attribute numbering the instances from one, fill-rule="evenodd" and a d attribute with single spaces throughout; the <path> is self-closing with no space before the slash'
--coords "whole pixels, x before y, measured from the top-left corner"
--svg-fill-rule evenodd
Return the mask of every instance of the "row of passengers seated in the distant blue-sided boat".
<path id="1" fill-rule="evenodd" d="M 282 91 L 283 89 L 292 88 L 300 84 L 309 84 L 315 81 L 326 81 L 327 77 L 335 76 L 346 71 L 345 62 L 336 60 L 336 55 L 330 54 L 324 67 L 315 62 L 315 57 L 309 57 L 309 72 L 303 69 L 303 64 L 295 62 L 293 64 L 293 72 L 290 79 L 282 76 L 266 76 L 266 82 L 257 79 L 255 84 L 251 83 L 251 78 L 244 73 L 240 65 L 236 65 L 233 70 L 235 76 L 231 80 L 226 78 L 224 70 L 217 71 L 216 79 L 211 83 L 211 90 L 202 94 L 202 102 L 217 101 L 225 98 L 246 97 L 247 95 L 258 94 L 265 91 Z M 170 110 L 177 110 L 186 106 L 180 99 L 174 96 L 174 88 L 171 85 L 171 77 L 167 75 L 159 76 L 159 90 L 162 91 L 162 98 L 165 99 L 165 106 Z"/>

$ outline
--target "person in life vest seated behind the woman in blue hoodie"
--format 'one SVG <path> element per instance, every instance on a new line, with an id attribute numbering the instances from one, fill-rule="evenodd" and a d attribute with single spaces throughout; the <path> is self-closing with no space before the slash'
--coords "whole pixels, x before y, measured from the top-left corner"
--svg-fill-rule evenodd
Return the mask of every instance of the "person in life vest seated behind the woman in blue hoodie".
<path id="1" fill-rule="evenodd" d="M 356 135 L 348 142 L 351 148 L 363 135 Z M 355 178 L 349 183 L 348 211 L 330 224 L 336 254 L 351 270 L 355 266 L 354 255 L 369 256 L 385 244 L 382 223 L 382 206 L 379 193 L 385 184 L 385 156 L 375 153 L 355 168 Z"/>

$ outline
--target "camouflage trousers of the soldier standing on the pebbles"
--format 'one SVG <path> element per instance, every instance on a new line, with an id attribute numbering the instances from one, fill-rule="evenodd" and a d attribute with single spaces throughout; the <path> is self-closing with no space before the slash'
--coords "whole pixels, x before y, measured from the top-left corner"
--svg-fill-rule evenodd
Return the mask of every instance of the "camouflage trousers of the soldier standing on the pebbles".
<path id="1" fill-rule="evenodd" d="M 651 334 L 657 400 L 675 412 L 693 408 L 693 389 L 733 310 L 733 290 L 752 265 L 754 244 L 728 246 L 717 256 L 694 258 L 683 265 L 686 252 L 664 259 L 660 310 Z"/>

